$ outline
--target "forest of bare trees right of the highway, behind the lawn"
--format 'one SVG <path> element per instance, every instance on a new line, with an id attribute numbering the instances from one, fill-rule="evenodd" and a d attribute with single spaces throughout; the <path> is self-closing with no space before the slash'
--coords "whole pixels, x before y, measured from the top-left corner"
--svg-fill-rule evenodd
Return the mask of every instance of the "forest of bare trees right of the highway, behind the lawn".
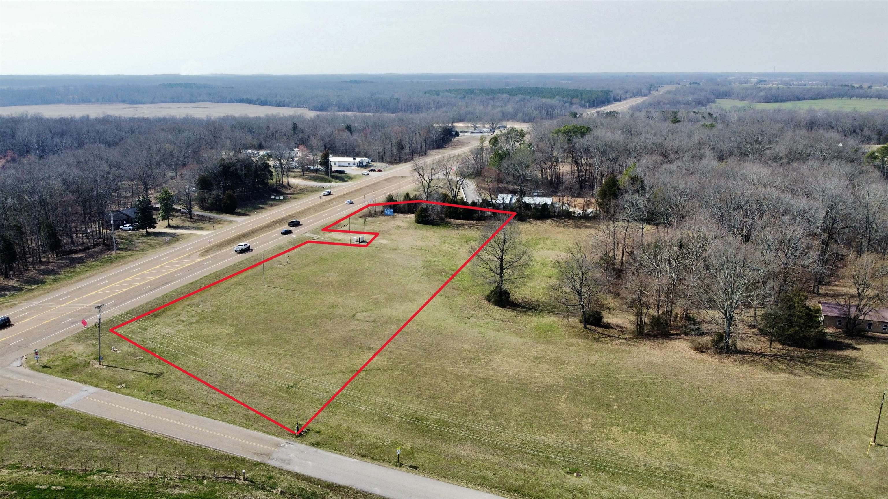
<path id="1" fill-rule="evenodd" d="M 886 112 L 649 108 L 488 142 L 461 160 L 488 199 L 595 197 L 595 243 L 567 250 L 555 293 L 583 325 L 607 289 L 638 334 L 700 331 L 705 320 L 717 330 L 711 346 L 733 352 L 742 313 L 772 321 L 789 303 L 805 306 L 793 294 L 802 290 L 851 281 L 849 334 L 885 305 L 888 181 L 869 145 L 888 142 Z M 522 204 L 512 205 L 519 218 L 529 214 Z M 777 337 L 823 339 L 809 333 Z"/>

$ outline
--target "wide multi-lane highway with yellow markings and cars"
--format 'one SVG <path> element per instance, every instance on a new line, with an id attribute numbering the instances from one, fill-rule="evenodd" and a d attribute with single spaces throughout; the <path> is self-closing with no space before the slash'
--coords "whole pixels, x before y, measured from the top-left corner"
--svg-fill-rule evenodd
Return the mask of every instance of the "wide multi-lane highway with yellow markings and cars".
<path id="1" fill-rule="evenodd" d="M 472 141 L 462 140 L 456 143 L 456 147 L 436 151 L 430 156 L 460 154 L 474 146 Z M 93 309 L 96 305 L 106 305 L 102 309 L 104 315 L 115 315 L 238 259 L 250 258 L 249 253 L 238 255 L 232 251 L 236 242 L 250 242 L 253 255 L 255 251 L 280 244 L 285 237 L 280 234 L 281 228 L 286 226 L 289 218 L 302 222 L 301 226 L 294 227 L 292 237 L 296 237 L 354 210 L 365 196 L 368 203 L 382 202 L 387 194 L 407 191 L 415 183 L 410 175 L 411 165 L 411 162 L 403 163 L 381 174 L 336 186 L 330 196 L 309 196 L 243 218 L 233 226 L 156 251 L 134 263 L 111 266 L 105 272 L 56 289 L 50 295 L 27 301 L 15 297 L 6 299 L 0 305 L 3 307 L 0 315 L 10 316 L 13 325 L 0 329 L 0 363 L 6 365 L 34 349 L 74 334 L 83 328 L 81 321 L 91 324 L 98 317 L 98 311 Z M 346 199 L 354 199 L 357 206 L 345 205 Z"/>

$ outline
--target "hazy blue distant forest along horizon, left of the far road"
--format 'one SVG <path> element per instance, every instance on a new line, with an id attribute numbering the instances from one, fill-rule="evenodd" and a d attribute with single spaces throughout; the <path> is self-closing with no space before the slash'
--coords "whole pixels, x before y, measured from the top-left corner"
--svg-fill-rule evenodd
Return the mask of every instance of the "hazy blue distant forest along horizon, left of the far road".
<path id="1" fill-rule="evenodd" d="M 562 98 L 483 92 L 469 96 L 426 93 L 475 89 L 570 87 L 607 89 L 614 100 L 647 95 L 676 75 L 142 75 L 0 76 L 0 106 L 89 102 L 228 102 L 307 107 L 348 113 L 439 113 L 446 121 L 497 119 L 532 122 L 579 107 Z M 595 101 L 595 99 L 586 99 Z M 601 99 L 599 99 L 601 101 Z M 607 104 L 609 100 L 602 101 Z"/>

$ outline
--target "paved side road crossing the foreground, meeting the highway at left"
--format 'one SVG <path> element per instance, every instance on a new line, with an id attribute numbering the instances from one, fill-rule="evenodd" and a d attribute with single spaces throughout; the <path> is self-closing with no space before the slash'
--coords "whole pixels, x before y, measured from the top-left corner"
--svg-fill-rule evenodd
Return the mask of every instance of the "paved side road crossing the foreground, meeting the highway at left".
<path id="1" fill-rule="evenodd" d="M 176 440 L 392 499 L 503 499 L 408 471 L 313 448 L 145 400 L 34 372 L 21 360 L 0 369 L 0 397 L 52 402 Z"/>

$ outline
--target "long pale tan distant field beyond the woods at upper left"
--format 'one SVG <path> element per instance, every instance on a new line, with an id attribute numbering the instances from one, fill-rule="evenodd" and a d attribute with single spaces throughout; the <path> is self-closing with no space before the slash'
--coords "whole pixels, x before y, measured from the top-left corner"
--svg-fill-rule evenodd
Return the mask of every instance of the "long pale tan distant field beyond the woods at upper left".
<path id="1" fill-rule="evenodd" d="M 60 118 L 65 116 L 92 117 L 105 115 L 118 116 L 194 116 L 203 118 L 206 116 L 217 117 L 226 115 L 236 116 L 265 116 L 265 115 L 321 115 L 317 111 L 310 111 L 305 107 L 274 107 L 255 106 L 253 104 L 228 104 L 220 102 L 181 102 L 161 104 L 44 104 L 37 106 L 5 106 L 0 107 L 0 115 L 20 115 L 21 113 L 39 114 L 47 118 Z"/>

